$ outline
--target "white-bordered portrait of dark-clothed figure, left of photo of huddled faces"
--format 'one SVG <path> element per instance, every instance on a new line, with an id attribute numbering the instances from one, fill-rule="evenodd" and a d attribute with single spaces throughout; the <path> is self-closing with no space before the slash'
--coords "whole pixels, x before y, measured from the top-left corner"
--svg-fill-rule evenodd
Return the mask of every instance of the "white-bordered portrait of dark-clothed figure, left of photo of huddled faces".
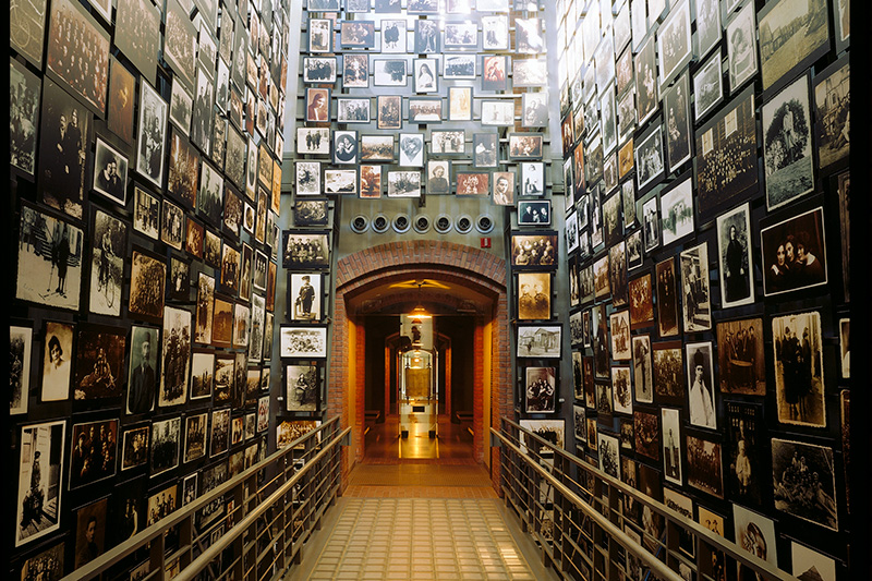
<path id="1" fill-rule="evenodd" d="M 754 302 L 750 215 L 746 203 L 717 217 L 720 304 L 725 308 Z"/>

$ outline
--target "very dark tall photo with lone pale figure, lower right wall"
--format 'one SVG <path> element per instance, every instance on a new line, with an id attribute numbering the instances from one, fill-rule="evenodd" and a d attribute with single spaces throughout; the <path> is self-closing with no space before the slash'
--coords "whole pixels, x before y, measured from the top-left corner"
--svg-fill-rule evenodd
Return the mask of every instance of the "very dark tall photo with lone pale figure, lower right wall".
<path id="1" fill-rule="evenodd" d="M 764 436 L 763 408 L 753 403 L 728 401 L 727 449 L 725 468 L 730 497 L 749 506 L 760 506 L 766 486 L 763 451 L 768 447 Z"/>

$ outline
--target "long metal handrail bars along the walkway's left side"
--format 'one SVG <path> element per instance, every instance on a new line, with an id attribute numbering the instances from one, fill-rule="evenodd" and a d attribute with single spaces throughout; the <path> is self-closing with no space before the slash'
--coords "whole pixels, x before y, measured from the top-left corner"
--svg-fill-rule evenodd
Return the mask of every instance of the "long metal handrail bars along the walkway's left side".
<path id="1" fill-rule="evenodd" d="M 256 477 L 258 472 L 266 469 L 274 469 L 276 471 L 275 476 L 269 480 L 268 482 L 264 482 L 262 486 L 259 486 L 256 492 L 249 495 L 246 498 L 243 498 L 243 503 L 251 501 L 252 499 L 256 499 L 258 496 L 263 494 L 265 489 L 272 486 L 278 479 L 286 474 L 287 468 L 277 468 L 279 467 L 280 462 L 290 460 L 291 462 L 296 459 L 301 459 L 295 452 L 300 452 L 301 448 L 304 450 L 303 457 L 310 453 L 312 450 L 316 449 L 316 446 L 320 446 L 320 451 L 312 458 L 304 458 L 305 464 L 300 468 L 300 470 L 295 471 L 294 474 L 287 480 L 284 484 L 282 484 L 279 488 L 281 494 L 274 493 L 269 496 L 269 503 L 261 501 L 258 506 L 249 515 L 253 515 L 256 512 L 256 516 L 263 516 L 268 508 L 271 508 L 274 501 L 279 500 L 282 495 L 288 494 L 289 491 L 295 484 L 299 484 L 300 481 L 317 464 L 318 461 L 323 460 L 328 452 L 332 451 L 332 449 L 338 445 L 346 445 L 348 441 L 348 435 L 351 431 L 350 427 L 347 427 L 342 432 L 338 432 L 339 429 L 339 417 L 334 417 L 329 421 L 326 421 L 324 424 L 318 426 L 317 428 L 300 436 L 295 440 L 289 443 L 281 449 L 274 452 L 268 458 L 264 459 L 263 461 L 250 467 L 249 469 L 244 470 L 243 472 L 237 474 L 232 479 L 228 480 L 227 482 L 216 486 L 214 489 L 209 491 L 208 493 L 199 496 L 198 498 L 192 500 L 191 503 L 184 505 L 184 507 L 175 510 L 174 512 L 166 516 L 165 518 L 160 519 L 158 522 L 152 524 L 150 526 L 146 528 L 145 530 L 136 533 L 134 536 L 121 543 L 120 545 L 107 550 L 102 555 L 98 556 L 87 565 L 84 565 L 73 571 L 72 573 L 65 576 L 63 581 L 78 581 L 78 580 L 88 580 L 94 579 L 97 576 L 109 571 L 113 566 L 119 565 L 123 559 L 133 555 L 137 550 L 146 547 L 147 545 L 152 546 L 150 549 L 150 561 L 152 561 L 152 572 L 148 576 L 148 579 L 162 579 L 165 574 L 165 566 L 167 561 L 171 561 L 173 558 L 181 554 L 190 553 L 193 549 L 193 522 L 195 521 L 197 513 L 203 510 L 205 507 L 210 505 L 216 500 L 222 500 L 228 493 L 231 493 L 235 489 L 241 488 L 245 485 L 246 481 L 250 481 L 253 477 Z M 325 434 L 331 434 L 334 437 L 330 441 L 324 443 L 319 441 L 323 440 L 322 436 Z M 286 464 L 287 465 L 287 464 Z M 233 509 L 233 513 L 238 512 L 242 509 L 242 503 L 238 503 Z M 317 509 L 313 510 L 313 512 L 317 511 Z M 194 559 L 191 565 L 203 562 L 202 557 L 206 553 L 209 553 L 209 549 L 216 545 L 221 545 L 221 549 L 226 549 L 232 542 L 238 541 L 239 537 L 244 534 L 249 530 L 249 525 L 256 521 L 256 517 L 249 518 L 247 516 L 240 522 L 234 523 L 225 531 L 222 536 L 213 542 L 209 547 L 207 547 L 196 559 Z M 220 522 L 220 520 L 218 521 Z M 209 530 L 214 530 L 218 522 L 213 523 L 209 525 Z M 245 526 L 241 526 L 242 523 L 245 523 Z M 180 538 L 180 547 L 169 557 L 164 555 L 164 536 L 165 534 L 179 526 L 182 531 L 187 530 L 185 536 L 191 536 L 191 543 L 189 545 L 184 545 L 183 541 Z M 203 536 L 203 535 L 201 535 Z M 156 552 L 156 547 L 159 550 Z M 211 554 L 211 553 L 209 553 Z M 239 557 L 238 557 L 239 558 Z M 209 561 L 205 561 L 208 565 Z M 197 574 L 202 571 L 198 569 L 194 571 L 191 569 L 191 565 L 185 567 L 177 578 L 179 579 L 187 579 L 189 577 L 182 577 L 182 573 L 185 571 L 190 572 L 190 574 Z M 205 568 L 205 567 L 204 567 Z M 156 577 L 155 573 L 158 573 Z"/>

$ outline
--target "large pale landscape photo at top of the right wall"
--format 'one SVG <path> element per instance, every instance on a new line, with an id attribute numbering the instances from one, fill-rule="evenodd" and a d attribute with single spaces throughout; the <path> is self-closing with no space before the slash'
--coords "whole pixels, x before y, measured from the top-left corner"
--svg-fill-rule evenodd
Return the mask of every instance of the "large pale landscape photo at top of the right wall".
<path id="1" fill-rule="evenodd" d="M 761 9 L 759 21 L 764 92 L 829 49 L 829 10 L 824 0 L 771 2 Z"/>

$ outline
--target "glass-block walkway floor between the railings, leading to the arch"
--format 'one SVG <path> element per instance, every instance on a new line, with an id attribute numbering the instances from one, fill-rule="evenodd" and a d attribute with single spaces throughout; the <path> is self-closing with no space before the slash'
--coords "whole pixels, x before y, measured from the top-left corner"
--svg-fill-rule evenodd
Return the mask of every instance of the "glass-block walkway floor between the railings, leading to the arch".
<path id="1" fill-rule="evenodd" d="M 363 464 L 286 579 L 557 579 L 518 523 L 483 467 Z"/>

